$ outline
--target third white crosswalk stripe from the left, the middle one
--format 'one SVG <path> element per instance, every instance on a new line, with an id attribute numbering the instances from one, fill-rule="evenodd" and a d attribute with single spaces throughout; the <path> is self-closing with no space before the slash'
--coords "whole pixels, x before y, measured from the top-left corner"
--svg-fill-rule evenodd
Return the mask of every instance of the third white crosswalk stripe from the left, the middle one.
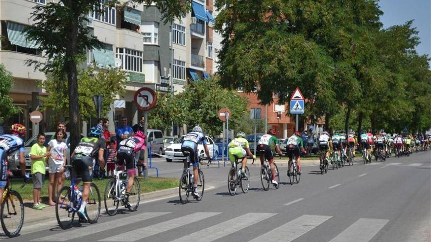
<path id="1" fill-rule="evenodd" d="M 266 220 L 276 214 L 273 213 L 248 213 L 237 218 L 218 223 L 214 226 L 186 235 L 173 242 L 190 242 L 191 238 L 196 238 L 198 242 L 215 241 L 226 235 L 235 233 L 245 227 Z"/>

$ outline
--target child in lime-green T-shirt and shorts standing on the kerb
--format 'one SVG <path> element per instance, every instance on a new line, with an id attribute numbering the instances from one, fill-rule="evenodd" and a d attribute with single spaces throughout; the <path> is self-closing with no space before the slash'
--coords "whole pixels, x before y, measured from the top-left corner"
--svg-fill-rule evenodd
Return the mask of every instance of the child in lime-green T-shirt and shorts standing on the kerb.
<path id="1" fill-rule="evenodd" d="M 33 179 L 33 209 L 41 210 L 46 206 L 39 203 L 40 191 L 44 185 L 45 178 L 45 160 L 51 153 L 47 152 L 47 147 L 44 146 L 46 137 L 44 133 L 37 135 L 37 143 L 30 149 L 31 158 L 31 176 Z"/>

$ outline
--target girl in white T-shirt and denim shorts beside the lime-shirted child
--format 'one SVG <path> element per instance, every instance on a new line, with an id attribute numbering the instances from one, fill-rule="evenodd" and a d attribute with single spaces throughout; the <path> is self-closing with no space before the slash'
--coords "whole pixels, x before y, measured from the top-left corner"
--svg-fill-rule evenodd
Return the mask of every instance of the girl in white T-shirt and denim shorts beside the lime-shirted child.
<path id="1" fill-rule="evenodd" d="M 55 139 L 51 139 L 48 143 L 47 151 L 51 152 L 48 160 L 49 185 L 48 185 L 48 204 L 55 206 L 55 185 L 57 190 L 63 187 L 64 166 L 66 165 L 66 150 L 67 145 L 63 141 L 66 133 L 63 129 L 57 129 Z"/>

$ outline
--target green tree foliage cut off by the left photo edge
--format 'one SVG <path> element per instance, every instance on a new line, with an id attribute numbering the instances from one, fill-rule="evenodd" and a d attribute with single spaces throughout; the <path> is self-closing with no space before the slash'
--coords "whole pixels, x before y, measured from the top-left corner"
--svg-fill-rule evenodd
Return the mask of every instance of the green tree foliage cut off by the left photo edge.
<path id="1" fill-rule="evenodd" d="M 9 96 L 13 83 L 10 72 L 0 64 L 0 124 L 3 123 L 4 119 L 21 111 L 18 107 L 13 105 L 13 100 Z"/>

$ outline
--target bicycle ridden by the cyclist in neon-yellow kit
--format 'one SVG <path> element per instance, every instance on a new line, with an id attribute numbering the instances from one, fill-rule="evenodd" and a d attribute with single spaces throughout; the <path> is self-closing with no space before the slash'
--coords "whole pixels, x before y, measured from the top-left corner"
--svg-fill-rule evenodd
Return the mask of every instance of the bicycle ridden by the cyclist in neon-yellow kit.
<path id="1" fill-rule="evenodd" d="M 241 187 L 243 193 L 247 193 L 248 188 L 250 187 L 250 171 L 248 170 L 248 167 L 245 166 L 243 173 L 241 173 L 238 166 L 241 167 L 242 161 L 238 162 L 238 155 L 233 155 L 235 157 L 235 161 L 232 163 L 232 168 L 229 170 L 227 177 L 227 186 L 231 196 L 236 194 L 238 186 Z"/>

